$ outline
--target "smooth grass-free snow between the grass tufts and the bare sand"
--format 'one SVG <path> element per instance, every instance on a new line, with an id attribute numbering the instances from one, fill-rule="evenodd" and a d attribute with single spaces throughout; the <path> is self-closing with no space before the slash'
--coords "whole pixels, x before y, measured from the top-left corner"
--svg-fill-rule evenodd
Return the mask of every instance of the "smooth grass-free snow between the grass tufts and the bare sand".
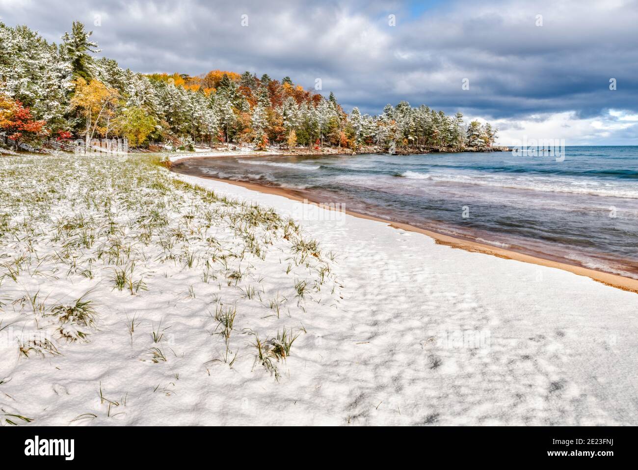
<path id="1" fill-rule="evenodd" d="M 304 323 L 320 338 L 307 358 L 314 377 L 304 379 L 306 409 L 291 409 L 282 423 L 636 423 L 635 293 L 279 195 L 183 178 L 305 214 L 308 232 L 339 253 L 340 311 Z"/>

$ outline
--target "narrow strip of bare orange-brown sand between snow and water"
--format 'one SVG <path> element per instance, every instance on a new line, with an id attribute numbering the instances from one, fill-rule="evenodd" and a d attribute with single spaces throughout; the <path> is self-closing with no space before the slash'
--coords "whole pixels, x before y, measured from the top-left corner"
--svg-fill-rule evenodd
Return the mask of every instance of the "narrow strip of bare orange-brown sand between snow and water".
<path id="1" fill-rule="evenodd" d="M 273 155 L 273 154 L 251 155 L 251 154 L 244 153 L 242 155 L 232 155 L 232 156 L 269 156 L 269 155 Z M 212 157 L 206 157 L 206 158 L 223 158 L 223 156 L 225 155 L 218 155 L 218 156 L 212 156 Z M 226 156 L 231 156 L 231 155 L 226 155 Z M 191 160 L 193 158 L 202 158 L 202 157 L 191 156 L 191 157 L 185 157 L 185 158 L 178 158 L 178 159 L 172 160 L 171 163 L 174 164 L 177 162 L 181 162 L 183 160 Z M 243 188 L 247 188 L 249 190 L 253 190 L 257 192 L 287 197 L 288 199 L 292 199 L 293 201 L 304 202 L 305 200 L 315 205 L 320 204 L 320 201 L 312 201 L 311 199 L 308 199 L 308 197 L 300 197 L 300 195 L 296 194 L 294 190 L 289 188 L 278 188 L 273 186 L 257 185 L 255 183 L 247 183 L 244 181 L 212 178 L 205 175 L 198 175 L 198 177 L 212 179 L 214 181 L 221 181 L 223 183 L 229 183 L 232 185 L 242 186 Z M 326 207 L 325 205 L 322 207 L 326 209 L 334 210 L 334 208 L 329 208 L 329 207 Z M 569 271 L 570 273 L 574 273 L 579 276 L 589 277 L 597 282 L 602 282 L 602 284 L 610 285 L 612 287 L 616 287 L 617 289 L 622 289 L 623 291 L 638 293 L 637 279 L 623 277 L 623 276 L 615 275 L 612 273 L 605 273 L 604 271 L 597 271 L 596 269 L 584 268 L 582 266 L 575 266 L 575 265 L 567 264 L 564 262 L 552 261 L 549 259 L 535 257 L 532 255 L 526 255 L 526 254 L 518 253 L 512 250 L 507 250 L 505 248 L 499 248 L 497 246 L 477 243 L 475 241 L 468 241 L 468 240 L 464 240 L 460 238 L 455 238 L 449 235 L 444 235 L 444 234 L 429 231 L 426 229 L 421 229 L 420 227 L 414 227 L 413 225 L 410 225 L 410 224 L 394 222 L 392 220 L 386 220 L 383 218 L 378 218 L 375 216 L 370 216 L 370 215 L 366 215 L 362 213 L 357 213 L 357 212 L 348 211 L 348 210 L 345 210 L 344 212 L 349 215 L 365 218 L 367 220 L 375 220 L 376 222 L 383 222 L 385 224 L 388 224 L 390 227 L 394 227 L 397 229 L 403 229 L 405 231 L 417 232 L 417 233 L 427 235 L 430 238 L 433 238 L 436 241 L 436 243 L 440 245 L 450 246 L 450 248 L 458 248 L 461 250 L 466 250 L 468 252 L 493 255 L 493 256 L 505 258 L 505 259 L 513 259 L 516 261 L 536 264 L 538 266 L 547 266 L 549 268 L 563 269 L 564 271 Z"/>

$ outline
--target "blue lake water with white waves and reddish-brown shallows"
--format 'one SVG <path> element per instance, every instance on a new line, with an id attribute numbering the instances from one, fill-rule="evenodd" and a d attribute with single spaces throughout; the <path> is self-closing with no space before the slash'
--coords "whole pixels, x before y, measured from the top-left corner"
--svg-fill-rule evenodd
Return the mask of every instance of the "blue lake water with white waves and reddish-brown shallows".
<path id="1" fill-rule="evenodd" d="M 560 160 L 560 158 L 558 159 Z M 295 190 L 311 201 L 638 278 L 638 147 L 199 158 L 175 171 Z"/>

